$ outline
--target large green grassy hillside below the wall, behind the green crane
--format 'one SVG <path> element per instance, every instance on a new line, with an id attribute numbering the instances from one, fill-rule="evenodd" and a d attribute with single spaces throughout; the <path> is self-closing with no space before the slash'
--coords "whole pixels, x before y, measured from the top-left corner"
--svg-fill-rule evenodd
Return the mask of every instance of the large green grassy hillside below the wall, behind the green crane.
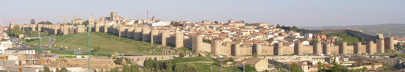
<path id="1" fill-rule="evenodd" d="M 55 43 L 52 46 L 56 45 L 55 48 L 62 48 L 68 47 L 68 49 L 83 49 L 87 50 L 87 33 L 73 33 L 68 34 L 70 36 L 77 35 L 77 37 L 72 38 L 59 38 L 56 37 Z M 135 41 L 132 39 L 126 39 L 122 37 L 117 37 L 115 35 L 111 35 L 110 33 L 102 33 L 102 32 L 92 32 L 90 33 L 91 36 L 91 48 L 100 47 L 101 49 L 98 52 L 108 52 L 108 53 L 130 53 L 130 54 L 141 54 L 141 55 L 161 55 L 161 48 L 156 48 L 158 44 L 151 44 L 143 41 Z M 61 47 L 62 46 L 62 47 Z M 143 51 L 153 51 L 152 53 L 142 53 Z M 179 48 L 178 50 L 183 51 L 191 51 L 188 48 Z M 172 49 L 173 50 L 173 49 Z M 176 50 L 173 50 L 176 51 Z"/>

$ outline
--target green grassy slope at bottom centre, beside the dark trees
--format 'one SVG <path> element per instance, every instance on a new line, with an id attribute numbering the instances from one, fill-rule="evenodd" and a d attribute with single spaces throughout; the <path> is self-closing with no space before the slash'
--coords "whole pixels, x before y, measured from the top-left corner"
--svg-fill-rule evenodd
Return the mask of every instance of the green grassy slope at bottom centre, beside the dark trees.
<path id="1" fill-rule="evenodd" d="M 213 60 L 212 58 L 207 58 L 207 57 L 189 57 L 189 58 L 179 58 L 179 59 L 171 59 L 171 60 L 163 60 L 164 62 L 213 62 L 213 63 L 191 63 L 196 65 L 197 71 L 200 72 L 209 72 L 210 68 L 212 68 L 213 72 L 220 72 L 220 66 L 215 65 L 214 63 L 217 62 Z M 224 72 L 241 72 L 239 68 L 236 66 L 231 66 L 231 67 L 222 67 L 222 71 Z"/>

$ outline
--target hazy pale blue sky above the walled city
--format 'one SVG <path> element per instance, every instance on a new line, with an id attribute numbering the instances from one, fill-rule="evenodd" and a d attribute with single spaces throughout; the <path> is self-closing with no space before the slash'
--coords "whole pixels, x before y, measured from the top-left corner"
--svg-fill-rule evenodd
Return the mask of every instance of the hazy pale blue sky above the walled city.
<path id="1" fill-rule="evenodd" d="M 53 23 L 63 23 L 60 17 L 73 15 L 87 20 L 93 14 L 99 19 L 113 10 L 127 19 L 146 19 L 143 11 L 149 10 L 149 19 L 155 15 L 156 19 L 191 22 L 226 23 L 233 19 L 288 26 L 405 23 L 405 0 L 1 0 L 0 4 L 0 20 L 49 19 Z M 66 19 L 71 22 L 73 18 Z"/>

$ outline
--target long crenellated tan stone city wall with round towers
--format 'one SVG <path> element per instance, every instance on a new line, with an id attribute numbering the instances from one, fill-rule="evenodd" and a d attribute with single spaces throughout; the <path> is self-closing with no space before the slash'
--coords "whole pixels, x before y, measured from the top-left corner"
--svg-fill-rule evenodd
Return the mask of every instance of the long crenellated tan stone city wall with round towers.
<path id="1" fill-rule="evenodd" d="M 100 24 L 104 24 L 104 28 L 100 29 Z M 284 55 L 296 53 L 298 55 L 305 54 L 349 54 L 349 53 L 384 53 L 384 48 L 394 49 L 393 37 L 385 37 L 381 39 L 382 34 L 377 34 L 375 41 L 367 41 L 366 45 L 362 45 L 360 42 L 354 42 L 353 45 L 347 45 L 346 42 L 339 43 L 332 46 L 331 43 L 318 43 L 314 42 L 313 46 L 303 45 L 302 42 L 295 42 L 294 47 L 282 45 L 282 43 L 275 43 L 273 46 L 262 46 L 254 43 L 250 47 L 241 47 L 239 43 L 233 43 L 231 46 L 222 45 L 220 40 L 211 40 L 211 43 L 203 42 L 202 36 L 185 38 L 184 33 L 160 31 L 158 29 L 149 29 L 149 27 L 126 27 L 123 25 L 113 24 L 110 27 L 106 23 L 96 23 L 95 32 L 111 32 L 119 36 L 126 36 L 127 38 L 141 39 L 142 41 L 150 40 L 150 43 L 162 42 L 162 45 L 168 43 L 174 44 L 176 48 L 188 47 L 192 51 L 207 51 L 217 55 Z M 22 25 L 20 29 L 23 30 L 36 30 L 36 31 L 48 31 L 50 34 L 70 34 L 70 33 L 84 33 L 85 25 Z M 351 31 L 351 30 L 346 30 Z M 349 32 L 350 33 L 350 32 Z M 374 43 L 376 42 L 376 43 Z"/>

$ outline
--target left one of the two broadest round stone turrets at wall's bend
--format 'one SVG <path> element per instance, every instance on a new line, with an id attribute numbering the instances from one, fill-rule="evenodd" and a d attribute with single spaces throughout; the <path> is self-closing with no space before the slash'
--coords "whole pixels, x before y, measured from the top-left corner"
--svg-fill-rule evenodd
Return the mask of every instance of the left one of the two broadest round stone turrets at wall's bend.
<path id="1" fill-rule="evenodd" d="M 194 36 L 192 37 L 192 51 L 203 51 L 201 48 L 201 43 L 203 43 L 203 37 L 202 36 Z"/>

